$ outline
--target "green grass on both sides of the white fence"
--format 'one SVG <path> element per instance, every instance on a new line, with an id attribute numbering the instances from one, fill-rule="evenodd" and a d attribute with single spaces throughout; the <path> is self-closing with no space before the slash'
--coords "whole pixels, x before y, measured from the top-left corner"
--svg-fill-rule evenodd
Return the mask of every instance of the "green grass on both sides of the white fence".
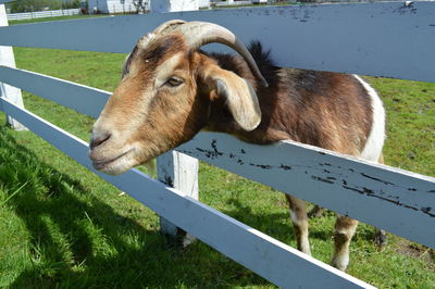
<path id="1" fill-rule="evenodd" d="M 124 55 L 15 48 L 17 66 L 113 90 Z M 435 176 L 435 85 L 369 78 L 388 115 L 386 163 Z M 94 120 L 23 92 L 28 110 L 88 140 Z M 0 123 L 4 123 L 0 115 Z M 290 246 L 282 193 L 201 163 L 200 199 Z M 310 221 L 312 253 L 328 262 L 334 213 Z M 272 288 L 197 241 L 179 249 L 153 212 L 30 131 L 0 126 L 0 287 Z M 377 250 L 361 225 L 348 273 L 382 288 L 434 288 L 433 251 L 388 235 Z"/>

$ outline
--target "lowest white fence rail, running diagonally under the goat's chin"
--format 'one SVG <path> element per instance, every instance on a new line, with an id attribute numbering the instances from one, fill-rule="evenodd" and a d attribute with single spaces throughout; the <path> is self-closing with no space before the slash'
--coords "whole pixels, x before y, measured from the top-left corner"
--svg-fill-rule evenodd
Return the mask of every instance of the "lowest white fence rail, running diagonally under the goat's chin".
<path id="1" fill-rule="evenodd" d="M 130 169 L 121 176 L 109 176 L 96 172 L 87 158 L 86 142 L 14 105 L 9 100 L 0 98 L 0 103 L 5 113 L 101 178 L 277 286 L 283 288 L 373 288 L 175 189 L 163 186 L 138 169 Z"/>

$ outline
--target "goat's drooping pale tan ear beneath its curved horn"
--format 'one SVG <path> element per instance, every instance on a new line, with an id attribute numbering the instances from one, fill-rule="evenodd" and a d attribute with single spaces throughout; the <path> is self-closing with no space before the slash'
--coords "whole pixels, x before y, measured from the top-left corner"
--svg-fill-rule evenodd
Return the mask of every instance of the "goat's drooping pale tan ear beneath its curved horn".
<path id="1" fill-rule="evenodd" d="M 206 81 L 219 97 L 226 99 L 229 112 L 243 129 L 250 131 L 257 128 L 261 122 L 261 110 L 256 91 L 245 78 L 214 66 L 207 74 Z"/>

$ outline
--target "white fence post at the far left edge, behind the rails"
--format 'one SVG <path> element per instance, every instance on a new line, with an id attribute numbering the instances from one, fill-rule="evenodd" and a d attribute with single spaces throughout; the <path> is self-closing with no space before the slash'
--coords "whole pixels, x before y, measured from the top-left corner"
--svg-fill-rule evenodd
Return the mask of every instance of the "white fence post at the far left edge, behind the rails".
<path id="1" fill-rule="evenodd" d="M 0 27 L 8 26 L 7 10 L 4 4 L 0 4 Z M 15 59 L 12 47 L 0 46 L 0 65 L 15 67 Z M 0 97 L 11 100 L 14 104 L 20 108 L 24 108 L 21 89 L 12 87 L 10 85 L 0 83 Z M 26 127 L 18 123 L 16 120 L 7 115 L 7 122 L 15 130 L 25 130 Z"/>

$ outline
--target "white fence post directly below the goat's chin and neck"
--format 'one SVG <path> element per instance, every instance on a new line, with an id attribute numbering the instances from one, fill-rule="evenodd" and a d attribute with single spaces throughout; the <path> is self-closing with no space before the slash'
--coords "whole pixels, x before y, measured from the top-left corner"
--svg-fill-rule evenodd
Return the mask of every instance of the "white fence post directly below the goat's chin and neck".
<path id="1" fill-rule="evenodd" d="M 181 193 L 198 200 L 198 160 L 187 154 L 169 151 L 157 158 L 157 175 L 160 181 L 177 189 Z M 195 237 L 176 227 L 166 218 L 160 217 L 162 233 L 176 237 L 184 247 L 194 242 Z"/>

